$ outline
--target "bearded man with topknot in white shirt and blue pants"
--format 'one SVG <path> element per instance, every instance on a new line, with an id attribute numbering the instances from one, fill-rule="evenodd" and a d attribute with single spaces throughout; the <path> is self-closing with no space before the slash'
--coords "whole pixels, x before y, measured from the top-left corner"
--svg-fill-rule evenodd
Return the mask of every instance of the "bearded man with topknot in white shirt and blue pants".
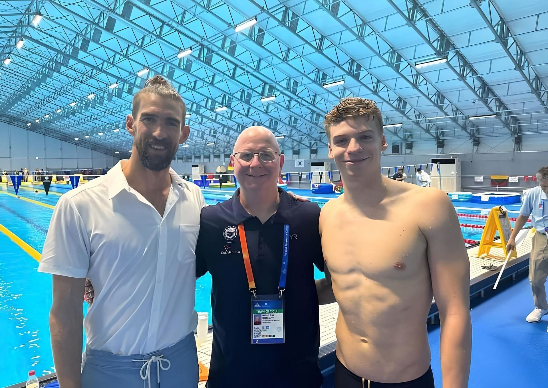
<path id="1" fill-rule="evenodd" d="M 53 274 L 50 331 L 62 388 L 198 384 L 195 248 L 205 202 L 169 168 L 189 137 L 185 114 L 172 85 L 147 80 L 126 119 L 129 160 L 55 207 L 38 271 Z M 94 303 L 83 320 L 86 277 Z"/>

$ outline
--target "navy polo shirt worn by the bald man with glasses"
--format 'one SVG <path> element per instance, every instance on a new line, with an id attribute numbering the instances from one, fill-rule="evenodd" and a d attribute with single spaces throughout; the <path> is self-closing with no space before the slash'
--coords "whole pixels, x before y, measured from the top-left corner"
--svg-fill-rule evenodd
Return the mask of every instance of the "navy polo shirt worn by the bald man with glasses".
<path id="1" fill-rule="evenodd" d="M 213 349 L 208 388 L 322 385 L 318 366 L 319 314 L 314 268 L 323 271 L 318 232 L 320 209 L 279 191 L 278 209 L 264 224 L 239 201 L 202 209 L 196 276 L 212 277 Z M 238 224 L 243 223 L 257 294 L 277 294 L 282 268 L 283 225 L 289 224 L 289 262 L 284 291 L 284 344 L 253 345 L 249 292 Z"/>

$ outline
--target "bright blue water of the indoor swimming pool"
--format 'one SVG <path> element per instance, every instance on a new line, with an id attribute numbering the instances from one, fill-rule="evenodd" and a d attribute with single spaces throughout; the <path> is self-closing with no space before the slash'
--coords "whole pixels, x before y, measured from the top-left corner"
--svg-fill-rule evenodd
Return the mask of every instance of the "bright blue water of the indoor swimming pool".
<path id="1" fill-rule="evenodd" d="M 35 193 L 34 188 L 22 186 L 19 195 L 55 205 L 67 187 L 52 186 L 49 196 L 38 190 Z M 309 196 L 319 206 L 329 198 L 335 198 L 335 195 L 310 195 L 310 190 L 294 191 Z M 53 210 L 3 193 L 14 194 L 13 187 L 0 184 L 0 224 L 41 252 Z M 232 190 L 212 190 L 204 195 L 206 202 L 213 205 L 229 199 Z M 479 210 L 461 209 L 458 212 L 481 213 Z M 461 223 L 484 224 L 484 220 L 464 217 Z M 463 229 L 465 239 L 479 240 L 481 233 L 482 229 Z M 25 380 L 29 369 L 35 369 L 37 375 L 54 372 L 48 325 L 52 276 L 38 273 L 38 262 L 3 233 L 0 233 L 0 252 L 0 350 L 3 356 L 0 386 L 5 386 Z M 315 277 L 323 277 L 316 268 Z M 211 321 L 210 288 L 209 274 L 196 281 L 196 310 L 209 312 Z M 85 314 L 85 305 L 83 309 Z"/>

